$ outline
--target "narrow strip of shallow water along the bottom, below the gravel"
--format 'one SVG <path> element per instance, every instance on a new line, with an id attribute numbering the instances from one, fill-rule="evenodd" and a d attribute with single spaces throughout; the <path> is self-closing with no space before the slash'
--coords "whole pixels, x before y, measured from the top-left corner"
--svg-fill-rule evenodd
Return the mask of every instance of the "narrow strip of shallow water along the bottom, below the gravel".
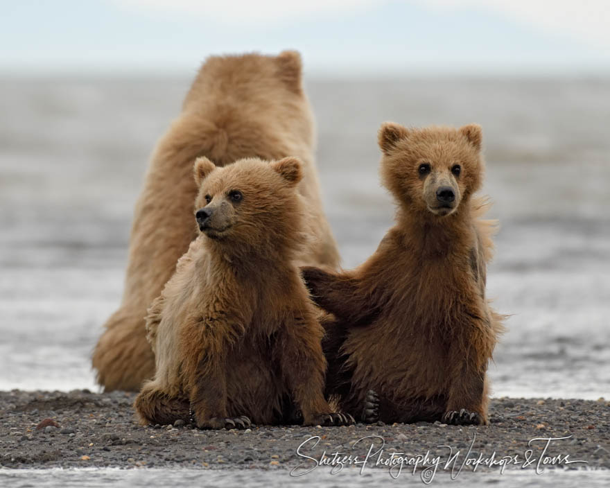
<path id="1" fill-rule="evenodd" d="M 576 483 L 586 487 L 607 487 L 609 471 L 549 470 L 537 475 L 528 471 L 505 471 L 504 473 L 459 473 L 451 479 L 449 473 L 437 473 L 429 486 L 486 487 L 500 482 L 506 488 L 556 487 L 572 488 Z M 0 470 L 0 485 L 5 488 L 26 487 L 113 487 L 171 486 L 176 482 L 189 487 L 249 487 L 268 488 L 315 486 L 333 487 L 396 487 L 426 484 L 419 474 L 401 473 L 394 479 L 389 473 L 374 469 L 360 473 L 358 469 L 345 469 L 331 475 L 328 472 L 312 472 L 298 478 L 291 477 L 289 471 L 263 470 L 202 470 L 202 469 L 19 469 Z"/>

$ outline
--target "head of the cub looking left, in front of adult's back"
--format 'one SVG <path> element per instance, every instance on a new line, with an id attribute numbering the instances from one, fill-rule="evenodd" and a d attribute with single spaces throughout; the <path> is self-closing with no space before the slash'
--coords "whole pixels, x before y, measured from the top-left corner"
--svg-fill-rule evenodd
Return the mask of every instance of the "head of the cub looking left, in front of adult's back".
<path id="1" fill-rule="evenodd" d="M 297 184 L 299 159 L 275 162 L 240 159 L 218 167 L 195 160 L 195 220 L 202 234 L 218 243 L 265 250 L 270 243 L 298 240 L 302 209 Z"/>

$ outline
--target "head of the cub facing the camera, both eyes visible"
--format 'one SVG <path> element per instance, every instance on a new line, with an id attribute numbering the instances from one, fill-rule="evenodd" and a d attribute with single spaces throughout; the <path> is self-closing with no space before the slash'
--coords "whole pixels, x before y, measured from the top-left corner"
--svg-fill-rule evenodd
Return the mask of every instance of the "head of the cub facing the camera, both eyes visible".
<path id="1" fill-rule="evenodd" d="M 480 125 L 410 129 L 385 123 L 378 134 L 383 183 L 409 211 L 455 214 L 482 181 Z"/>

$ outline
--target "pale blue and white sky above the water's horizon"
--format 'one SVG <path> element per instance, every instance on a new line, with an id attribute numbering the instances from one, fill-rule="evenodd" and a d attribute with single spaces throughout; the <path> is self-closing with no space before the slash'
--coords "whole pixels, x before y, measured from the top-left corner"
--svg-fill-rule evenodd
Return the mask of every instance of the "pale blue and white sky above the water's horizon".
<path id="1" fill-rule="evenodd" d="M 607 0 L 3 0 L 0 72 L 192 73 L 298 49 L 326 76 L 610 74 Z"/>

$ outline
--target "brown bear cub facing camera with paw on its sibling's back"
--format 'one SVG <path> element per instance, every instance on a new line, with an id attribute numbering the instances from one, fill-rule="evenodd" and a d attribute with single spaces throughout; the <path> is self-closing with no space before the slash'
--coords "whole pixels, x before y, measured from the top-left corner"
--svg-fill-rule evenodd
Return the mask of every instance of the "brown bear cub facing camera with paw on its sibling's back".
<path id="1" fill-rule="evenodd" d="M 481 139 L 478 125 L 384 124 L 381 176 L 396 225 L 356 270 L 302 268 L 336 317 L 324 340 L 326 392 L 354 417 L 487 424 L 487 364 L 503 327 L 485 298 L 496 225 L 473 196 Z"/>

